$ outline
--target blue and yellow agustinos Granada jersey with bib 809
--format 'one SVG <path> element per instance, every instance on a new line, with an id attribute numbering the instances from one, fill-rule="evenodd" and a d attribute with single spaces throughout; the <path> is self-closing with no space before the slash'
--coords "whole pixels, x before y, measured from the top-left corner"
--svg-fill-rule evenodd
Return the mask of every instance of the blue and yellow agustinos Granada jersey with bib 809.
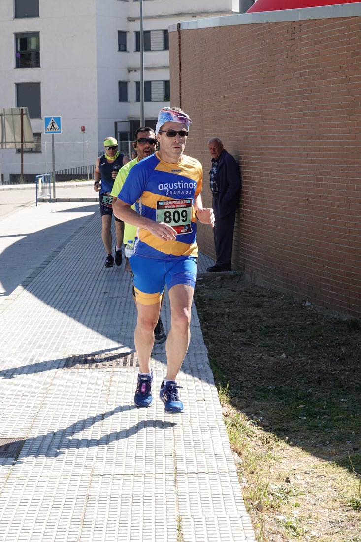
<path id="1" fill-rule="evenodd" d="M 202 191 L 202 178 L 201 163 L 184 155 L 178 164 L 169 164 L 156 152 L 132 167 L 118 198 L 128 205 L 135 202 L 139 215 L 177 230 L 175 241 L 162 241 L 138 228 L 135 254 L 167 260 L 198 255 L 193 202 Z"/>

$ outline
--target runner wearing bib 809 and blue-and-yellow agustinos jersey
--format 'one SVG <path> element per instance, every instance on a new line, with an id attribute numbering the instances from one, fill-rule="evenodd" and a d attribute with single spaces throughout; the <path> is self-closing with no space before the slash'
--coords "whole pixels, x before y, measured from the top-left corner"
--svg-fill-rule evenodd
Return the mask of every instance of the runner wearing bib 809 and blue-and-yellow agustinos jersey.
<path id="1" fill-rule="evenodd" d="M 196 281 L 196 221 L 214 226 L 213 209 L 202 205 L 202 165 L 183 154 L 191 119 L 181 109 L 158 115 L 159 151 L 130 170 L 114 203 L 120 220 L 137 226 L 130 264 L 134 274 L 138 321 L 134 332 L 139 375 L 137 406 L 153 401 L 150 357 L 160 300 L 169 291 L 171 329 L 166 340 L 167 371 L 160 387 L 165 412 L 182 412 L 177 375 L 190 341 L 191 305 Z M 136 209 L 131 209 L 133 204 Z"/>

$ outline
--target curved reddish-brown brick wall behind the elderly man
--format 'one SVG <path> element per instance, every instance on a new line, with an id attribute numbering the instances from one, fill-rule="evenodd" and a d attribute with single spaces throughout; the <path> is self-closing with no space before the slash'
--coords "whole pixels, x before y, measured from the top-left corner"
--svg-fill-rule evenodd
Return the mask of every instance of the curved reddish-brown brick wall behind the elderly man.
<path id="1" fill-rule="evenodd" d="M 208 139 L 240 163 L 233 267 L 357 318 L 360 27 L 361 17 L 343 17 L 170 33 L 171 104 L 193 120 L 186 154 L 203 164 L 204 205 Z M 198 232 L 214 256 L 211 229 Z"/>

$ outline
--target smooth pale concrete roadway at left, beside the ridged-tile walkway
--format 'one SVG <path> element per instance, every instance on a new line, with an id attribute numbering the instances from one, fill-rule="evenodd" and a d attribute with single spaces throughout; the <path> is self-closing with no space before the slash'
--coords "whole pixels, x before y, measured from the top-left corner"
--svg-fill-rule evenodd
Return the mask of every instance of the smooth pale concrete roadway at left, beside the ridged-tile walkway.
<path id="1" fill-rule="evenodd" d="M 56 187 L 59 203 L 36 208 L 35 185 L 0 186 L 0 311 L 9 294 L 94 215 L 98 196 L 92 187 L 93 182 L 62 183 Z"/>

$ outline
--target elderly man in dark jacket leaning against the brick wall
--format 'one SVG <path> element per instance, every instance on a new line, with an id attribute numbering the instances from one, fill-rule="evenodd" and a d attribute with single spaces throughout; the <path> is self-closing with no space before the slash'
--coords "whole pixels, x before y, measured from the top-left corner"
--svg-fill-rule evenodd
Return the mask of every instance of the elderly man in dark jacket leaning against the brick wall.
<path id="1" fill-rule="evenodd" d="M 218 273 L 231 270 L 233 230 L 241 178 L 236 160 L 223 149 L 219 138 L 211 138 L 208 141 L 208 149 L 212 157 L 209 182 L 216 219 L 213 230 L 216 264 L 208 267 L 207 271 Z"/>

